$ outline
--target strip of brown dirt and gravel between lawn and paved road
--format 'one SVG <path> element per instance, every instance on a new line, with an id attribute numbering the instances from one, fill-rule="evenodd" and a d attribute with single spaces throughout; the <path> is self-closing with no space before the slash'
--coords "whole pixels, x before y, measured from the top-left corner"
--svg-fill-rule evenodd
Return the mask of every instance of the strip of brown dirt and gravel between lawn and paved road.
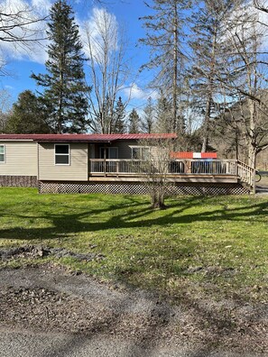
<path id="1" fill-rule="evenodd" d="M 0 324 L 268 353 L 267 305 L 192 300 L 172 306 L 152 293 L 77 276 L 52 265 L 0 270 Z"/>

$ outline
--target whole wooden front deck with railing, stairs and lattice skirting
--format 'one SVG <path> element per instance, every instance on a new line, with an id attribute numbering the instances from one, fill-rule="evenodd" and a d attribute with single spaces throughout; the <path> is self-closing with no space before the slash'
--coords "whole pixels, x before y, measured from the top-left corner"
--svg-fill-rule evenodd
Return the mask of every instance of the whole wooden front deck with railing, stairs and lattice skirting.
<path id="1" fill-rule="evenodd" d="M 39 181 L 40 193 L 148 194 L 143 160 L 89 160 L 88 181 Z M 152 163 L 153 179 L 165 178 L 167 195 L 244 195 L 254 192 L 254 170 L 236 160 L 170 160 L 165 172 Z"/>

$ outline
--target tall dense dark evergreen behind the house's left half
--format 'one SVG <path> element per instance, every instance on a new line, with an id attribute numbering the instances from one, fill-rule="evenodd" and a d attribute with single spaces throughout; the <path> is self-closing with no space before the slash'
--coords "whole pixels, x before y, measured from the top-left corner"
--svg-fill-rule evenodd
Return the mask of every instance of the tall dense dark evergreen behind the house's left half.
<path id="1" fill-rule="evenodd" d="M 51 108 L 50 122 L 55 133 L 82 133 L 87 129 L 88 101 L 83 70 L 84 57 L 79 40 L 79 27 L 65 0 L 51 7 L 47 32 L 50 39 L 47 74 L 32 74 L 39 86 L 45 87 L 42 100 Z"/>

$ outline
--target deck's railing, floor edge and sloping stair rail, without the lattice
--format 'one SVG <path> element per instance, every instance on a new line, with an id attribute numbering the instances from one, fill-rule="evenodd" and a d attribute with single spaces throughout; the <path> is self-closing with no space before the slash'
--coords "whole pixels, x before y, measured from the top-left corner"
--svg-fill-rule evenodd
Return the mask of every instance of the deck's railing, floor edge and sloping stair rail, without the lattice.
<path id="1" fill-rule="evenodd" d="M 178 183 L 242 183 L 254 187 L 254 170 L 237 160 L 171 160 L 165 172 L 153 165 L 157 178 Z M 148 179 L 144 160 L 89 160 L 88 180 L 141 182 Z"/>

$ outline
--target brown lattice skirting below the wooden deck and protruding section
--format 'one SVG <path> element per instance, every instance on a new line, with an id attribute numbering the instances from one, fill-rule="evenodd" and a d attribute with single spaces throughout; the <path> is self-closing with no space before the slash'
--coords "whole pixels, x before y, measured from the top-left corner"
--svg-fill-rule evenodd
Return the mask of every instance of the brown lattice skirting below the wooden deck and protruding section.
<path id="1" fill-rule="evenodd" d="M 139 182 L 53 182 L 40 181 L 39 192 L 45 193 L 106 193 L 145 195 L 148 188 Z M 249 191 L 239 184 L 176 183 L 168 188 L 168 196 L 193 195 L 245 195 Z"/>

